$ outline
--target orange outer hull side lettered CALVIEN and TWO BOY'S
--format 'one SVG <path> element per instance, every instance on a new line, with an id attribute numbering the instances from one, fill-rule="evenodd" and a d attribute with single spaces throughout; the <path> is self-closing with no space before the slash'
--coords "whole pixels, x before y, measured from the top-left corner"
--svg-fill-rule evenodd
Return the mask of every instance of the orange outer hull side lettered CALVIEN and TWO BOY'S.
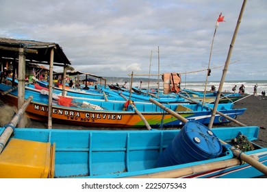
<path id="1" fill-rule="evenodd" d="M 48 119 L 48 105 L 47 95 L 38 96 L 39 102 L 31 101 L 27 107 L 27 116 L 31 119 L 47 122 Z M 14 95 L 3 95 L 1 100 L 5 104 L 17 106 L 17 97 Z M 43 102 L 41 102 L 43 101 Z M 222 110 L 225 115 L 231 118 L 236 118 L 242 115 L 245 109 Z M 172 115 L 160 112 L 142 112 L 142 115 L 151 128 L 175 128 L 184 123 L 176 119 Z M 179 115 L 189 119 L 196 120 L 201 123 L 209 123 L 211 117 L 210 111 L 179 112 Z M 53 106 L 52 118 L 55 123 L 64 123 L 68 125 L 90 126 L 92 128 L 146 128 L 144 121 L 134 111 L 105 111 L 105 110 L 88 110 L 64 106 Z M 220 115 L 216 115 L 214 123 L 229 123 L 229 121 Z"/>

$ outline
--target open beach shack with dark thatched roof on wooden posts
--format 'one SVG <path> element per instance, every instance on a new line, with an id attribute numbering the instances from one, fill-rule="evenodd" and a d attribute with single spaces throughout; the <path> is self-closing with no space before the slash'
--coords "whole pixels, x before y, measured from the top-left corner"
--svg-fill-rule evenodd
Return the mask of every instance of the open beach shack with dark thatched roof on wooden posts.
<path id="1" fill-rule="evenodd" d="M 12 85 L 15 80 L 18 81 L 18 109 L 23 106 L 25 101 L 25 81 L 29 80 L 26 75 L 26 63 L 48 65 L 45 68 L 49 76 L 49 117 L 48 128 L 52 128 L 52 82 L 53 82 L 53 66 L 66 67 L 71 62 L 66 57 L 62 47 L 58 43 L 47 43 L 36 40 L 19 40 L 12 38 L 0 38 L 0 64 L 1 79 L 3 75 L 12 77 Z M 31 68 L 32 69 L 32 68 Z M 47 70 L 49 69 L 49 70 Z M 29 69 L 30 70 L 30 69 Z M 30 70 L 32 71 L 32 70 Z M 34 72 L 33 72 L 34 73 Z M 17 74 L 17 77 L 15 75 Z M 33 75 L 33 74 L 32 74 Z M 1 82 L 0 82 L 1 83 Z M 20 122 L 20 127 L 24 127 L 24 123 Z"/>

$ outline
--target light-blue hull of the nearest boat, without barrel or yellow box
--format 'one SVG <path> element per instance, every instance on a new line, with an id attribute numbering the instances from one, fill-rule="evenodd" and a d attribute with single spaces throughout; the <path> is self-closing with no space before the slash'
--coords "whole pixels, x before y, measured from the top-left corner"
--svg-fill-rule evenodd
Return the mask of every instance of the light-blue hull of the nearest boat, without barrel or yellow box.
<path id="1" fill-rule="evenodd" d="M 3 132 L 0 129 L 0 134 Z M 51 176 L 53 178 L 253 178 L 262 176 L 262 173 L 244 163 L 228 168 L 217 169 L 201 173 L 185 174 L 180 170 L 197 165 L 209 165 L 233 159 L 228 145 L 224 145 L 223 153 L 217 158 L 210 158 L 191 163 L 157 167 L 157 159 L 173 141 L 180 130 L 44 130 L 34 128 L 16 128 L 12 139 L 22 139 L 22 142 L 34 141 L 50 143 L 55 150 L 51 155 Z M 212 132 L 223 141 L 231 141 L 238 134 L 244 134 L 250 141 L 257 139 L 258 127 L 216 128 Z M 11 145 L 7 144 L 7 147 Z M 36 143 L 33 143 L 35 146 Z M 38 144 L 39 145 L 39 144 Z M 48 144 L 47 144 L 48 145 Z M 257 155 L 259 162 L 267 165 L 267 149 L 255 145 L 255 150 L 245 152 L 248 155 Z M 8 149 L 8 148 L 5 149 Z M 32 146 L 28 146 L 31 149 Z M 5 149 L 3 153 L 5 152 Z M 53 151 L 51 149 L 51 151 Z M 0 160 L 1 156 L 0 154 Z M 27 152 L 26 152 L 27 153 Z M 46 153 L 45 153 L 46 154 Z M 16 155 L 16 154 L 15 154 Z M 25 156 L 25 155 L 23 155 Z M 29 157 L 30 158 L 30 157 Z M 17 160 L 21 163 L 21 160 Z M 0 161 L 1 162 L 1 161 Z M 47 162 L 47 159 L 45 160 Z M 21 163 L 31 163 L 25 160 Z M 44 163 L 45 164 L 45 163 Z M 1 166 L 1 165 L 0 165 Z M 25 165 L 26 166 L 26 165 Z M 46 165 L 45 167 L 49 167 Z M 26 166 L 27 167 L 27 166 Z M 5 167 L 2 167 L 4 169 Z M 28 168 L 29 169 L 29 168 Z M 20 171 L 19 169 L 15 170 Z M 171 175 L 162 175 L 172 171 Z M 12 174 L 10 172 L 9 174 Z M 5 177 L 0 173 L 0 177 Z M 10 176 L 11 177 L 11 176 Z"/>

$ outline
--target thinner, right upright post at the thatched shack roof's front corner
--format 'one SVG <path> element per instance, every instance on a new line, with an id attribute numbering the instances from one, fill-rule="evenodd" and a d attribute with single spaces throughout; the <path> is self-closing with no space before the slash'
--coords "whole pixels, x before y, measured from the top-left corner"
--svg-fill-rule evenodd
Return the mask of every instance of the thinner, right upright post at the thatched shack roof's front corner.
<path id="1" fill-rule="evenodd" d="M 48 98 L 48 123 L 47 128 L 52 128 L 52 99 L 53 99 L 53 62 L 54 62 L 54 47 L 50 52 L 49 62 L 49 98 Z"/>

